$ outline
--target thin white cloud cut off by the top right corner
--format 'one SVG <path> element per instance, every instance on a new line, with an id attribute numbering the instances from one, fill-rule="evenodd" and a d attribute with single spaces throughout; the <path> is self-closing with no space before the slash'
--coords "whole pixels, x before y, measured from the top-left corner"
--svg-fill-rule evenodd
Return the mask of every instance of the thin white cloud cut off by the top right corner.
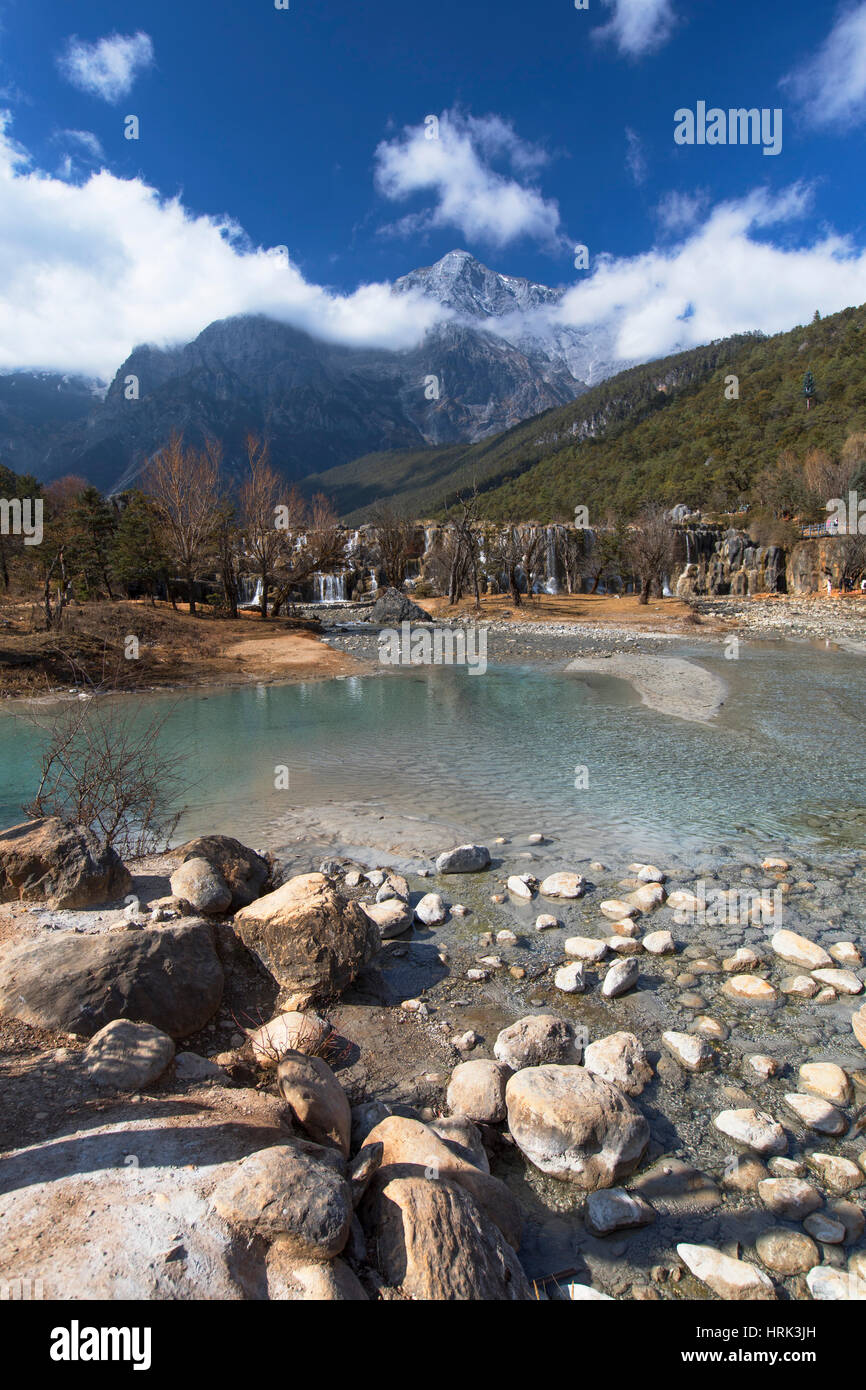
<path id="1" fill-rule="evenodd" d="M 815 57 L 783 78 L 819 126 L 866 121 L 866 0 L 837 18 Z"/>

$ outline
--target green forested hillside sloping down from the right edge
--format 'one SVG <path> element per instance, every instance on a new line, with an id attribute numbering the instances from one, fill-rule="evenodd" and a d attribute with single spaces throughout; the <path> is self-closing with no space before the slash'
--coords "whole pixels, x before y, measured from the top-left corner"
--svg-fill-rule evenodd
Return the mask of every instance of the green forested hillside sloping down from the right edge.
<path id="1" fill-rule="evenodd" d="M 808 398 L 806 375 L 810 373 Z M 726 379 L 737 377 L 734 385 Z M 632 367 L 575 402 L 471 446 L 368 455 L 309 480 L 348 520 L 391 499 L 434 516 L 477 484 L 492 518 L 592 518 L 648 500 L 796 509 L 809 455 L 866 431 L 866 307 L 771 338 L 741 335 Z M 781 461 L 780 461 L 781 460 Z"/>

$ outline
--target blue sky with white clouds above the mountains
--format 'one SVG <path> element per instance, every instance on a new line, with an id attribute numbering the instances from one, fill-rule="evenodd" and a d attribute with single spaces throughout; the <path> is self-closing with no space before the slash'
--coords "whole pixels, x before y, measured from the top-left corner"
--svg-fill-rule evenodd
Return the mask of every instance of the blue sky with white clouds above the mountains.
<path id="1" fill-rule="evenodd" d="M 627 356 L 866 299 L 866 3 L 289 3 L 0 0 L 0 368 L 245 310 L 407 345 L 388 282 L 455 246 Z M 780 107 L 778 157 L 677 146 L 699 100 Z"/>

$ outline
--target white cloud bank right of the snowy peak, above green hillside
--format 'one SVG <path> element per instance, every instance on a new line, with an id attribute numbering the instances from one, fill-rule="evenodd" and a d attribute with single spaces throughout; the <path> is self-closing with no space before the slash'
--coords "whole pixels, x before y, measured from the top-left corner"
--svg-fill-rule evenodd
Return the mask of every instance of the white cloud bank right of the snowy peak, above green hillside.
<path id="1" fill-rule="evenodd" d="M 723 203 L 667 250 L 601 259 L 556 314 L 573 327 L 605 324 L 616 353 L 649 360 L 760 328 L 781 332 L 866 300 L 866 252 L 826 234 L 809 246 L 778 246 L 756 234 L 802 217 L 809 189 L 759 190 Z M 790 238 L 787 238 L 790 240 Z M 688 318 L 683 316 L 688 311 Z"/>

